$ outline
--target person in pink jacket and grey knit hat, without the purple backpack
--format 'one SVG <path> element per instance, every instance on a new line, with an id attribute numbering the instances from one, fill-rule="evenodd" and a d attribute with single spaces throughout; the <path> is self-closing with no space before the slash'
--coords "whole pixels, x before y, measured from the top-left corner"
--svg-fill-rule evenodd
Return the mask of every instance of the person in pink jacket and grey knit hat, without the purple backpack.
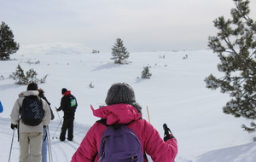
<path id="1" fill-rule="evenodd" d="M 145 119 L 142 119 L 142 107 L 136 102 L 134 90 L 129 84 L 113 84 L 105 100 L 108 106 L 91 110 L 96 117 L 106 120 L 106 124 L 127 124 L 142 144 L 142 151 L 154 162 L 173 162 L 177 155 L 177 140 L 172 134 L 161 139 L 160 134 Z M 96 122 L 90 127 L 79 148 L 73 154 L 71 162 L 99 161 L 99 150 L 107 126 Z M 144 162 L 148 159 L 144 156 Z"/>

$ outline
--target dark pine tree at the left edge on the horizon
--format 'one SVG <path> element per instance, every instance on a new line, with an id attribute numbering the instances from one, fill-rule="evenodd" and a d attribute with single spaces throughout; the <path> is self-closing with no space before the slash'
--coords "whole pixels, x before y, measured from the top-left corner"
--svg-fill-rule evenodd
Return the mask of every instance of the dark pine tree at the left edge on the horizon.
<path id="1" fill-rule="evenodd" d="M 9 55 L 19 49 L 19 43 L 15 43 L 14 34 L 3 21 L 0 26 L 0 60 L 9 60 Z"/>

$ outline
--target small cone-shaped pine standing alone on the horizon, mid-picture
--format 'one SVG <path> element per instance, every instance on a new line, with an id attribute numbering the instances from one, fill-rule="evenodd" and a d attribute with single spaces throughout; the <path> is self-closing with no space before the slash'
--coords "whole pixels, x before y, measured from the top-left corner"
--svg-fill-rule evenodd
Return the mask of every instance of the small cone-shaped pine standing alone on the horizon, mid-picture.
<path id="1" fill-rule="evenodd" d="M 116 43 L 112 48 L 112 55 L 111 60 L 114 60 L 115 64 L 127 63 L 126 59 L 128 59 L 130 55 L 129 52 L 126 51 L 123 41 L 120 38 L 116 39 Z"/>

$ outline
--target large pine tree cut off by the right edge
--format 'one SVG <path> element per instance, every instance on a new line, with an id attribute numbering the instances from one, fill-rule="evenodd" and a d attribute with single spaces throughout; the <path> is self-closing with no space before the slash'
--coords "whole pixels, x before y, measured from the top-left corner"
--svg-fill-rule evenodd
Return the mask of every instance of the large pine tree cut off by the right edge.
<path id="1" fill-rule="evenodd" d="M 217 36 L 209 37 L 208 46 L 218 54 L 218 71 L 224 72 L 222 78 L 212 74 L 205 79 L 207 88 L 221 89 L 230 94 L 230 101 L 223 112 L 236 118 L 252 119 L 250 127 L 242 124 L 248 132 L 256 130 L 256 22 L 249 17 L 249 1 L 233 0 L 235 9 L 231 9 L 232 19 L 224 16 L 214 20 L 218 28 Z"/>

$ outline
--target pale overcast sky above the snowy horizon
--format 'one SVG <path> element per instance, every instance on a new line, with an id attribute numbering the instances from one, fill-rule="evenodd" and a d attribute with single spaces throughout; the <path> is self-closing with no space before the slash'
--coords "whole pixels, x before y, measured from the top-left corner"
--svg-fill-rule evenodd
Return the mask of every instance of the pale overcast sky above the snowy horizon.
<path id="1" fill-rule="evenodd" d="M 0 0 L 0 20 L 20 45 L 82 43 L 110 52 L 121 38 L 130 52 L 197 50 L 216 35 L 212 20 L 230 18 L 232 8 L 233 0 Z"/>

